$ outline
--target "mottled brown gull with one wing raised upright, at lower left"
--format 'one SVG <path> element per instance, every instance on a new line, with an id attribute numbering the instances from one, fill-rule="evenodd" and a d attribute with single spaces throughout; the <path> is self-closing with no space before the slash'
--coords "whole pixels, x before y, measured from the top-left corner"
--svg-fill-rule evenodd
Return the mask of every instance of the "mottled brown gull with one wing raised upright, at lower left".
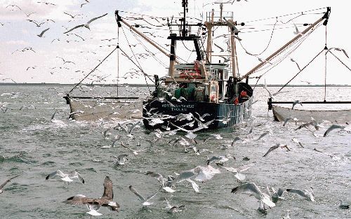
<path id="1" fill-rule="evenodd" d="M 117 202 L 112 202 L 113 190 L 112 181 L 110 177 L 106 176 L 104 181 L 104 193 L 100 198 L 88 198 L 85 195 L 75 195 L 69 197 L 65 203 L 67 204 L 89 204 L 93 206 L 105 206 L 110 208 L 112 211 L 119 212 L 119 204 Z"/>

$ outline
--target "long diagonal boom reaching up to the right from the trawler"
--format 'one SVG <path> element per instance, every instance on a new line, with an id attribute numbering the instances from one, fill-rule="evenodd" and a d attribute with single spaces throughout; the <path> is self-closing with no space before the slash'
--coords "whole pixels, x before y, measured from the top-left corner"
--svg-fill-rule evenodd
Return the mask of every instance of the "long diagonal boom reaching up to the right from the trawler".
<path id="1" fill-rule="evenodd" d="M 263 66 L 263 64 L 270 62 L 270 59 L 272 59 L 272 57 L 274 57 L 275 55 L 279 54 L 279 52 L 282 52 L 282 50 L 284 50 L 286 47 L 288 47 L 289 45 L 291 45 L 291 43 L 295 42 L 296 40 L 298 40 L 298 38 L 302 37 L 304 34 L 307 33 L 307 31 L 310 31 L 310 29 L 314 28 L 317 26 L 317 24 L 319 24 L 320 22 L 322 22 L 322 20 L 324 20 L 323 24 L 326 25 L 329 19 L 329 14 L 331 12 L 331 8 L 327 7 L 326 13 L 324 13 L 323 17 L 319 18 L 316 22 L 314 22 L 313 24 L 310 25 L 310 27 L 307 27 L 304 31 L 302 31 L 300 34 L 298 34 L 298 36 L 295 36 L 293 39 L 291 39 L 291 41 L 289 41 L 288 43 L 286 43 L 285 45 L 283 45 L 281 48 L 279 48 L 277 51 L 273 52 L 272 55 L 270 55 L 269 57 L 267 57 L 265 60 L 263 60 L 263 62 L 260 62 L 260 64 L 258 64 L 257 66 L 255 66 L 253 69 L 251 69 L 251 71 L 249 71 L 248 73 L 246 73 L 244 76 L 241 76 L 240 78 L 238 78 L 238 81 L 243 80 L 244 78 L 248 78 L 251 73 L 254 73 L 257 69 L 259 69 L 261 66 Z"/>

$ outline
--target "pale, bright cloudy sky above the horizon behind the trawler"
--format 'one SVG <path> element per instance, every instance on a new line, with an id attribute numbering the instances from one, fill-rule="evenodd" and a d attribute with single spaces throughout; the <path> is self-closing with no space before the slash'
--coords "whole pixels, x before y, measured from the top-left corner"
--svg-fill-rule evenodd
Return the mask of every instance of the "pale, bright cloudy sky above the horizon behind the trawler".
<path id="1" fill-rule="evenodd" d="M 172 15 L 173 21 L 180 17 L 180 12 L 183 11 L 181 0 L 88 1 L 0 0 L 0 83 L 78 83 L 114 50 L 117 43 L 121 50 L 116 50 L 107 57 L 96 71 L 87 76 L 84 83 L 145 83 L 145 76 L 139 69 L 143 69 L 149 76 L 167 74 L 168 57 L 138 36 L 135 37 L 128 27 L 122 25 L 122 28 L 118 28 L 114 11 L 121 11 L 120 15 L 126 22 L 139 24 L 136 25 L 138 30 L 145 32 L 145 35 L 168 50 L 170 42 L 166 36 L 169 35 L 169 31 L 168 27 L 162 24 L 166 24 L 167 17 L 172 20 Z M 215 11 L 219 10 L 219 4 L 216 3 L 220 2 L 219 0 L 188 2 L 187 15 L 199 20 L 206 20 L 206 12 L 212 8 Z M 260 71 L 253 75 L 260 76 L 264 73 L 259 83 L 266 80 L 267 84 L 288 82 L 299 72 L 298 66 L 301 69 L 308 64 L 323 50 L 325 43 L 328 48 L 342 48 L 346 54 L 350 52 L 351 55 L 351 43 L 345 34 L 349 25 L 345 19 L 348 13 L 345 1 L 241 0 L 225 3 L 224 10 L 232 11 L 237 22 L 245 23 L 244 26 L 238 26 L 238 36 L 242 39 L 237 43 L 239 73 L 244 75 L 260 62 L 258 58 L 265 59 L 296 36 L 296 27 L 298 31 L 302 31 L 303 23 L 313 23 L 322 17 L 321 12 L 325 11 L 326 6 L 331 6 L 327 27 L 317 28 L 289 57 L 267 73 Z M 317 8 L 323 9 L 315 10 Z M 86 24 L 93 17 L 105 13 L 107 15 L 91 22 L 90 30 L 80 27 L 63 34 L 72 27 Z M 201 15 L 204 18 L 201 18 Z M 37 27 L 37 24 L 30 20 L 44 23 Z M 42 37 L 37 36 L 45 29 L 48 30 Z M 226 33 L 226 29 L 215 31 L 218 35 Z M 225 41 L 225 38 L 218 38 L 214 43 L 225 48 Z M 178 43 L 178 49 L 177 55 L 181 59 L 194 62 L 194 48 L 190 43 L 185 42 L 184 46 Z M 258 55 L 248 55 L 244 49 L 250 54 Z M 124 52 L 128 57 L 132 57 L 139 67 L 128 60 Z M 213 52 L 216 52 L 216 55 L 225 55 L 225 52 L 220 52 L 215 46 Z M 350 59 L 343 51 L 331 52 L 346 66 L 351 66 Z M 326 81 L 328 84 L 351 85 L 351 72 L 338 59 L 330 52 L 326 56 L 323 53 L 291 83 L 324 84 Z M 220 57 L 213 58 L 213 61 L 219 60 L 223 62 Z M 150 80 L 147 82 L 150 83 Z M 256 80 L 252 80 L 251 83 L 256 83 Z"/>

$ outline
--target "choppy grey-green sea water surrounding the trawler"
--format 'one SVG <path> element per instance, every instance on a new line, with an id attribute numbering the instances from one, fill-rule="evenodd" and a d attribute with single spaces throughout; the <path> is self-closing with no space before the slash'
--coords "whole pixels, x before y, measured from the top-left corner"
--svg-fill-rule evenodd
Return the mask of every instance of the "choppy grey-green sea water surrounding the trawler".
<path id="1" fill-rule="evenodd" d="M 114 201 L 119 203 L 121 211 L 117 213 L 102 207 L 99 212 L 103 215 L 98 218 L 281 218 L 287 211 L 290 218 L 351 218 L 350 210 L 338 208 L 340 199 L 351 202 L 351 134 L 333 130 L 329 136 L 322 137 L 331 125 L 328 122 L 314 131 L 317 137 L 307 129 L 296 130 L 297 126 L 292 122 L 283 127 L 283 122 L 274 122 L 272 111 L 267 111 L 267 92 L 262 87 L 254 91 L 258 101 L 253 104 L 251 120 L 227 129 L 195 133 L 195 146 L 200 151 L 213 151 L 200 155 L 185 153 L 184 146 L 179 143 L 176 146 L 168 144 L 176 137 L 187 139 L 182 132 L 175 136 L 161 134 L 159 138 L 140 123 L 140 127 L 132 132 L 133 139 L 129 139 L 123 130 L 114 128 L 118 127 L 118 122 L 127 121 L 69 120 L 69 106 L 62 97 L 71 88 L 70 85 L 0 86 L 0 104 L 3 106 L 0 111 L 0 183 L 20 174 L 5 185 L 4 193 L 0 195 L 0 218 L 89 218 L 86 206 L 62 202 L 77 194 L 101 197 L 105 176 L 112 179 Z M 278 87 L 268 89 L 273 93 Z M 286 87 L 284 90 L 289 92 L 279 94 L 276 99 L 324 99 L 323 87 Z M 138 97 L 144 97 L 144 92 L 149 92 L 147 87 L 122 87 L 119 90 L 119 94 Z M 84 87 L 78 93 L 82 96 L 114 96 L 116 87 Z M 326 97 L 329 101 L 350 101 L 350 94 L 351 87 L 328 87 Z M 350 105 L 331 107 L 351 108 Z M 344 125 L 343 121 L 338 122 Z M 248 134 L 252 127 L 253 132 Z M 314 130 L 313 127 L 310 129 Z M 267 130 L 272 131 L 272 135 L 255 141 Z M 220 134 L 223 139 L 204 142 L 211 134 Z M 121 136 L 116 146 L 106 148 L 112 145 L 116 136 Z M 235 136 L 241 140 L 230 146 Z M 304 148 L 296 146 L 292 138 L 298 139 Z M 138 150 L 149 146 L 146 139 L 156 139 L 154 146 L 151 151 L 138 155 L 120 144 L 123 142 Z M 263 157 L 276 143 L 288 145 L 291 151 L 278 148 Z M 222 144 L 229 146 L 223 149 Z M 120 154 L 128 154 L 128 161 L 124 166 L 114 167 L 112 155 Z M 159 183 L 145 175 L 146 171 L 175 176 L 175 172 L 206 166 L 206 160 L 213 155 L 235 157 L 225 162 L 225 167 L 253 164 L 243 172 L 244 182 L 256 183 L 262 191 L 266 186 L 276 189 L 312 187 L 316 202 L 284 192 L 284 200 L 277 202 L 274 208 L 268 208 L 266 214 L 260 213 L 257 199 L 231 193 L 240 183 L 234 174 L 224 169 L 209 181 L 197 182 L 199 193 L 194 192 L 190 183 L 178 183 L 176 192 L 159 191 L 150 201 L 154 203 L 147 207 L 128 190 L 128 186 L 133 185 L 148 197 L 159 190 Z M 77 170 L 86 183 L 74 181 L 67 185 L 60 178 L 46 181 L 46 176 L 57 169 L 63 172 Z M 165 198 L 172 205 L 185 205 L 185 209 L 167 213 Z"/>

